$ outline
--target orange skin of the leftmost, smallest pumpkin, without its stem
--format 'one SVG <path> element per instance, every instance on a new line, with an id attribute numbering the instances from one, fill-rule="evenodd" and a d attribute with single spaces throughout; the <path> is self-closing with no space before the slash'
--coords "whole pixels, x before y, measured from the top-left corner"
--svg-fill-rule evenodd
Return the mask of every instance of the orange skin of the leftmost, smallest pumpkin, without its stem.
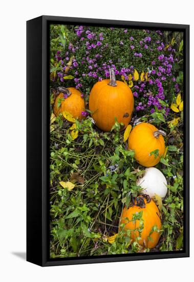
<path id="1" fill-rule="evenodd" d="M 69 87 L 67 89 L 71 92 L 71 95 L 62 100 L 61 105 L 57 107 L 58 99 L 63 98 L 63 93 L 59 93 L 53 107 L 54 114 L 57 116 L 59 113 L 67 111 L 72 114 L 74 118 L 81 120 L 83 118 L 81 112 L 85 111 L 84 99 L 81 97 L 81 92 L 74 87 Z"/>

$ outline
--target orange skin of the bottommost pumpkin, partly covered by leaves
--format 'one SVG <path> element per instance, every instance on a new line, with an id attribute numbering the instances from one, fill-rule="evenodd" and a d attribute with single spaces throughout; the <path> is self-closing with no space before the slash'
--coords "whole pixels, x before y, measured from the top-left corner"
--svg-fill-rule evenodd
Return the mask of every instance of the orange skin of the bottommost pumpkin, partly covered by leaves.
<path id="1" fill-rule="evenodd" d="M 142 219 L 143 219 L 143 230 L 141 232 L 141 239 L 138 240 L 138 243 L 141 246 L 145 246 L 146 248 L 152 249 L 155 248 L 156 245 L 158 244 L 159 238 L 160 238 L 160 233 L 157 231 L 154 231 L 152 233 L 152 229 L 154 226 L 158 227 L 158 230 L 161 230 L 162 228 L 162 223 L 160 219 L 160 212 L 158 207 L 156 206 L 155 202 L 153 200 L 150 200 L 149 203 L 147 203 L 147 200 L 144 199 L 145 203 L 145 208 L 137 207 L 137 206 L 132 206 L 128 209 L 126 207 L 123 209 L 122 216 L 121 216 L 121 224 L 125 224 L 124 230 L 134 230 L 139 227 L 139 220 L 130 221 L 129 223 L 128 220 L 132 220 L 133 214 L 136 212 L 143 212 L 142 213 Z M 124 218 L 128 218 L 124 219 Z M 152 233 L 152 234 L 150 234 Z M 133 242 L 136 240 L 137 237 L 139 237 L 139 231 L 131 231 L 131 239 Z M 148 236 L 152 238 L 152 240 L 148 240 Z"/>

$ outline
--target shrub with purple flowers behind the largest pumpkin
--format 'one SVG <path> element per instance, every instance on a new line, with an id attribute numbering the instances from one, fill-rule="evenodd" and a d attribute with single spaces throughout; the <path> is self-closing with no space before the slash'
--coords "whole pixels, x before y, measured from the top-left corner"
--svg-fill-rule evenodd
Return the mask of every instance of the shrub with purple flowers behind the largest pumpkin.
<path id="1" fill-rule="evenodd" d="M 163 110 L 168 115 L 167 100 L 180 91 L 177 83 L 177 62 L 180 54 L 174 48 L 174 38 L 165 45 L 159 30 L 74 27 L 66 31 L 65 46 L 60 43 L 53 54 L 56 71 L 53 82 L 80 89 L 86 98 L 92 86 L 109 78 L 112 67 L 118 80 L 129 82 L 135 97 L 136 111 L 154 113 Z M 57 35 L 58 36 L 58 35 Z M 179 34 L 181 37 L 181 35 Z M 134 70 L 139 79 L 134 80 Z M 52 73 L 52 69 L 51 69 Z M 66 79 L 71 76 L 71 80 Z"/>

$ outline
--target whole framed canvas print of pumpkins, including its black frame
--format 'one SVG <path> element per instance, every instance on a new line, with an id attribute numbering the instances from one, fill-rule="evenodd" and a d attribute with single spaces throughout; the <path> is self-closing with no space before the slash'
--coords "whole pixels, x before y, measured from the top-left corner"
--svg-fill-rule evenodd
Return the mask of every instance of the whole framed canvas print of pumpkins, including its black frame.
<path id="1" fill-rule="evenodd" d="M 189 26 L 27 22 L 27 260 L 189 256 Z"/>

